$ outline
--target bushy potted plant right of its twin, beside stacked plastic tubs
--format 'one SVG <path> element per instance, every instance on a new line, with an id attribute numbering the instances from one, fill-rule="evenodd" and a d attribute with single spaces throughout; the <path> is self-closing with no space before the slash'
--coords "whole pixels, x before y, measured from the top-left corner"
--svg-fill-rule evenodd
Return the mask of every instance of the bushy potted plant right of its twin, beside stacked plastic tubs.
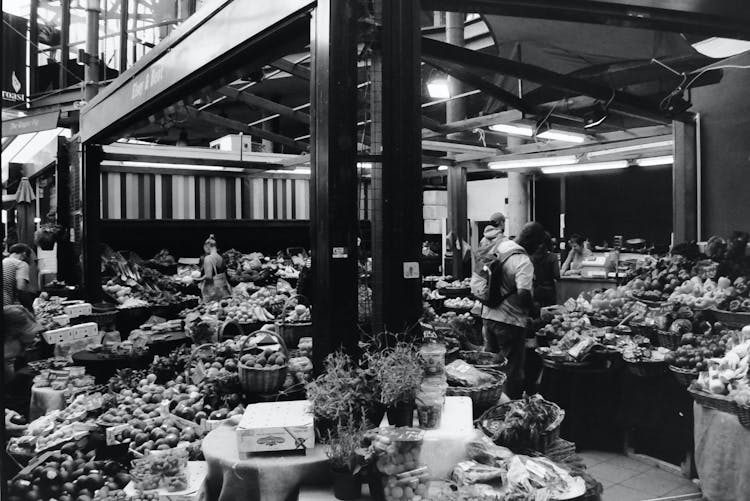
<path id="1" fill-rule="evenodd" d="M 411 344 L 398 342 L 391 348 L 368 353 L 367 371 L 375 382 L 375 393 L 387 407 L 388 422 L 411 426 L 414 397 L 422 382 L 419 351 Z"/>

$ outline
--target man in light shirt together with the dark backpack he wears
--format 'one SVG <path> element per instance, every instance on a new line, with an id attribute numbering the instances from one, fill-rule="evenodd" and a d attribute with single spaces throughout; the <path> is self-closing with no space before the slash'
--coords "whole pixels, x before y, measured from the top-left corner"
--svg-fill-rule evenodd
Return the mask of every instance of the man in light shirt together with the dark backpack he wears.
<path id="1" fill-rule="evenodd" d="M 516 240 L 488 227 L 477 252 L 471 288 L 482 306 L 484 349 L 508 360 L 506 393 L 520 398 L 524 386 L 526 329 L 530 321 L 534 265 L 529 259 L 544 242 L 544 227 L 527 223 Z"/>

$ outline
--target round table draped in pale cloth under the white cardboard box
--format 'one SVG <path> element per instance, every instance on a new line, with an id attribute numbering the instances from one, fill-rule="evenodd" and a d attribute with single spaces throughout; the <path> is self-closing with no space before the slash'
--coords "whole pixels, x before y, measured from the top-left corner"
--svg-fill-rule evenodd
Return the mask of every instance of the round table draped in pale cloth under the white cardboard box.
<path id="1" fill-rule="evenodd" d="M 300 453 L 266 453 L 240 459 L 235 429 L 220 426 L 203 439 L 208 463 L 207 501 L 287 501 L 300 485 L 332 485 L 325 448 Z"/>

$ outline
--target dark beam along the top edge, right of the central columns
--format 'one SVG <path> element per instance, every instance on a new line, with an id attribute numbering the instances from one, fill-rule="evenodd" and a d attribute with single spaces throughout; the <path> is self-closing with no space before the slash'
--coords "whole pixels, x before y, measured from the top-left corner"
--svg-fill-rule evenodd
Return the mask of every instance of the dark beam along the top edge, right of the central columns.
<path id="1" fill-rule="evenodd" d="M 422 0 L 422 8 L 750 40 L 744 0 Z"/>

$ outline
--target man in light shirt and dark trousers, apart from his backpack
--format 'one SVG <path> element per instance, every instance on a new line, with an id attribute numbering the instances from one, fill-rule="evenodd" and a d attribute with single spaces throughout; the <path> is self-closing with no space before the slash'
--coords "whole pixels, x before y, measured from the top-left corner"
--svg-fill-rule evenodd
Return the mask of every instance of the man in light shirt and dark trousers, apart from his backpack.
<path id="1" fill-rule="evenodd" d="M 523 227 L 515 241 L 499 239 L 494 252 L 503 262 L 501 293 L 505 299 L 496 307 L 482 307 L 485 350 L 502 353 L 507 358 L 506 388 L 508 396 L 513 399 L 522 396 L 524 385 L 526 329 L 530 321 L 534 281 L 534 265 L 529 254 L 544 242 L 544 236 L 542 225 L 532 222 Z"/>

